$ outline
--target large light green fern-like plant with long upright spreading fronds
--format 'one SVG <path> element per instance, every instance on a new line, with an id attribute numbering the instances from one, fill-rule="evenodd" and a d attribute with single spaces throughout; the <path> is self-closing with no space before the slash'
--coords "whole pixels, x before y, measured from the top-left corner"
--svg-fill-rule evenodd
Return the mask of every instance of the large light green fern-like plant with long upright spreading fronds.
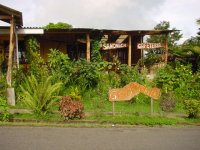
<path id="1" fill-rule="evenodd" d="M 38 116 L 49 112 L 57 101 L 61 83 L 52 84 L 51 80 L 51 76 L 38 80 L 31 75 L 20 85 L 22 102 Z"/>

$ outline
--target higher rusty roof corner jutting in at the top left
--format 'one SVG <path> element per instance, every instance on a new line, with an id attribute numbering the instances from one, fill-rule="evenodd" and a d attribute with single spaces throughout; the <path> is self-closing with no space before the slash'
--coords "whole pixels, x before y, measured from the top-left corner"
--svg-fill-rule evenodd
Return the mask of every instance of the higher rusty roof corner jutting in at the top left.
<path id="1" fill-rule="evenodd" d="M 15 9 L 0 4 L 0 20 L 10 23 L 10 17 L 14 16 L 17 26 L 23 26 L 22 13 Z"/>

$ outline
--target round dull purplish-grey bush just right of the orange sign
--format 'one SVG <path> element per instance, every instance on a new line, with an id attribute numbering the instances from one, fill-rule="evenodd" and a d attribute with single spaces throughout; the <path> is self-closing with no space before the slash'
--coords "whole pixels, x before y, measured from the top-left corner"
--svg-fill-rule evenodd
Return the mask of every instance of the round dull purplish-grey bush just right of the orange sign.
<path id="1" fill-rule="evenodd" d="M 163 111 L 173 111 L 176 106 L 176 100 L 172 93 L 164 93 L 161 97 L 160 107 Z"/>

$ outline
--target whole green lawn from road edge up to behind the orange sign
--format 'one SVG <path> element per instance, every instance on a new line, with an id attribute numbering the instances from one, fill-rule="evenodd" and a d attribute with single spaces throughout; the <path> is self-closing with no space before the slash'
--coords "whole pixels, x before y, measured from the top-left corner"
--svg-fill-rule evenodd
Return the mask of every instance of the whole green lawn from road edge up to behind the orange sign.
<path id="1" fill-rule="evenodd" d="M 112 124 L 118 126 L 163 126 L 163 125 L 196 125 L 200 124 L 200 118 L 188 119 L 183 117 L 164 117 L 167 113 L 161 111 L 159 101 L 154 101 L 154 116 L 150 116 L 150 102 L 136 103 L 130 101 L 116 102 L 115 112 L 117 115 L 109 115 L 112 112 L 112 102 L 108 100 L 83 100 L 84 111 L 90 112 L 90 115 L 81 120 L 73 120 L 65 122 L 64 118 L 59 113 L 51 113 L 43 117 L 38 117 L 33 114 L 13 114 L 13 124 L 32 125 L 36 124 L 41 126 L 73 126 L 73 127 L 106 127 Z M 18 104 L 16 108 L 24 108 L 23 105 Z M 54 110 L 58 110 L 58 105 L 55 105 Z M 184 113 L 182 106 L 177 106 L 172 114 Z M 168 116 L 168 115 L 167 115 Z M 6 123 L 0 123 L 5 125 Z M 12 123 L 7 123 L 8 125 Z"/>

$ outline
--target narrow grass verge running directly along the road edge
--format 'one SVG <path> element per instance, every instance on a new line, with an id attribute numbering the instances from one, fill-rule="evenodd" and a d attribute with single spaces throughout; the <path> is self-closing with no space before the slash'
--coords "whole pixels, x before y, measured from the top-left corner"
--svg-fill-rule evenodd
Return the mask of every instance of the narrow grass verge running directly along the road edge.
<path id="1" fill-rule="evenodd" d="M 197 119 L 188 119 L 181 117 L 161 117 L 161 116 L 137 116 L 137 115 L 90 115 L 79 120 L 69 120 L 64 121 L 64 118 L 58 113 L 48 114 L 44 118 L 37 118 L 33 114 L 14 114 L 12 116 L 13 125 L 34 125 L 34 126 L 88 126 L 88 127 L 106 127 L 111 125 L 117 126 L 134 126 L 134 125 L 145 125 L 145 126 L 176 126 L 176 125 L 199 125 L 200 118 Z M 8 125 L 12 125 L 8 123 Z M 68 124 L 68 125 L 67 125 Z M 6 125 L 5 122 L 1 122 L 0 125 Z"/>

